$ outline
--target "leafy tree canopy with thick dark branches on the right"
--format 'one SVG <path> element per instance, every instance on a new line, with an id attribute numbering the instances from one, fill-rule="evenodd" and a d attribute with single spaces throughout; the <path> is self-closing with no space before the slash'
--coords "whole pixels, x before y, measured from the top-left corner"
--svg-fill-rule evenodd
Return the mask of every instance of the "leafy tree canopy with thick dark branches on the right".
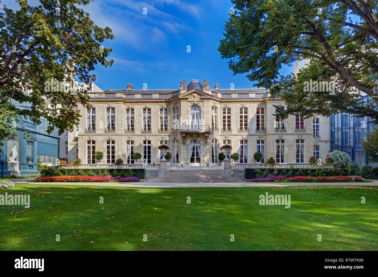
<path id="1" fill-rule="evenodd" d="M 329 116 L 339 111 L 378 122 L 378 20 L 376 0 L 232 0 L 218 51 L 234 74 L 248 73 L 256 85 L 285 99 L 287 117 Z M 282 65 L 310 59 L 294 76 Z M 334 82 L 330 90 L 306 90 L 306 82 Z M 355 101 L 353 87 L 372 97 Z"/>

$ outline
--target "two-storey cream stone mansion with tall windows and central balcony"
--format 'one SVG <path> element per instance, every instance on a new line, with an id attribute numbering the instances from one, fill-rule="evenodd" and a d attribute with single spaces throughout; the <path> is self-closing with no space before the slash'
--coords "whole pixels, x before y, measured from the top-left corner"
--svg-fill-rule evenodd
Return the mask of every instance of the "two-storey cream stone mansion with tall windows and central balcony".
<path id="1" fill-rule="evenodd" d="M 160 144 L 169 146 L 171 166 L 184 167 L 220 166 L 224 144 L 244 164 L 256 162 L 255 152 L 263 153 L 262 162 L 273 156 L 277 163 L 307 163 L 312 155 L 324 160 L 329 150 L 328 118 L 276 118 L 273 105 L 285 108 L 285 102 L 262 88 L 210 89 L 206 80 L 192 80 L 180 89 L 134 90 L 129 84 L 90 96 L 91 108 L 78 106 L 83 120 L 77 130 L 61 136 L 68 161 L 78 157 L 93 164 L 94 153 L 102 151 L 103 163 L 121 158 L 132 164 L 132 154 L 140 152 L 144 163 L 158 164 Z"/>

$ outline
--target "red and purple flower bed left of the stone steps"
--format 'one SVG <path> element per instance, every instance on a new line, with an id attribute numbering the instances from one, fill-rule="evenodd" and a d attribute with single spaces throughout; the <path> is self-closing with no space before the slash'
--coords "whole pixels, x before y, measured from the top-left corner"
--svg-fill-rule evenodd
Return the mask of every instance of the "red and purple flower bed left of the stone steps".
<path id="1" fill-rule="evenodd" d="M 121 176 L 54 176 L 54 177 L 37 177 L 34 182 L 139 182 L 138 177 L 122 178 Z"/>

